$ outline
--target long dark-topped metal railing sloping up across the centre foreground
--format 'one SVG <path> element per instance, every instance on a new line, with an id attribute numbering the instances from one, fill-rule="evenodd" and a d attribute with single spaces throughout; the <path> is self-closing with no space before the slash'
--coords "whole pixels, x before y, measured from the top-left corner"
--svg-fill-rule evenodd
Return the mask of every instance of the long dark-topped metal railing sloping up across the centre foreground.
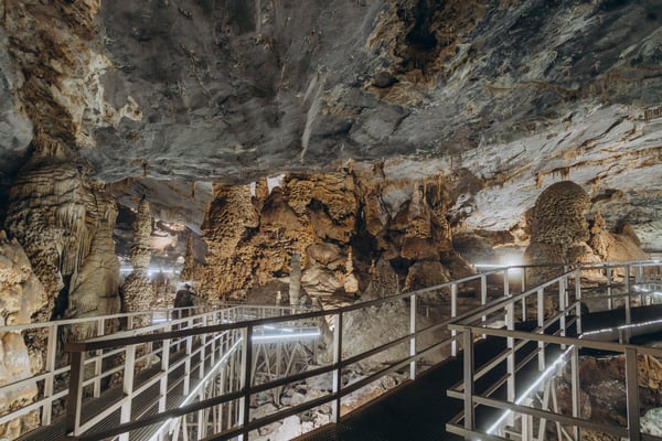
<path id="1" fill-rule="evenodd" d="M 178 416 L 183 416 L 188 413 L 185 411 L 186 409 L 192 412 L 203 408 L 217 406 L 220 404 L 236 401 L 237 406 L 243 409 L 241 412 L 241 418 L 238 418 L 236 421 L 236 426 L 223 431 L 222 433 L 217 433 L 214 439 L 224 440 L 242 435 L 244 437 L 244 440 L 246 440 L 253 430 L 292 415 L 300 413 L 303 410 L 309 410 L 325 404 L 331 405 L 333 409 L 332 418 L 334 421 L 339 421 L 341 418 L 342 400 L 350 394 L 353 394 L 371 383 L 383 378 L 385 375 L 391 375 L 396 372 L 406 372 L 410 379 L 415 379 L 418 372 L 425 368 L 424 364 L 419 364 L 419 362 L 426 357 L 433 356 L 435 353 L 441 351 L 449 352 L 449 354 L 446 356 L 450 355 L 451 352 L 455 354 L 458 347 L 456 344 L 453 344 L 453 336 L 450 335 L 446 329 L 450 323 L 450 320 L 458 315 L 458 298 L 462 286 L 473 283 L 474 287 L 471 289 L 471 292 L 474 293 L 474 302 L 477 304 L 487 304 L 488 298 L 493 295 L 494 292 L 496 292 L 498 295 L 510 295 L 508 271 L 508 268 L 499 268 L 436 287 L 413 292 L 398 293 L 383 299 L 373 299 L 342 308 L 300 312 L 299 306 L 290 306 L 295 312 L 290 315 L 252 319 L 242 322 L 227 321 L 213 325 L 188 327 L 183 330 L 173 330 L 170 332 L 146 333 L 142 335 L 116 335 L 115 338 L 110 340 L 106 337 L 90 338 L 83 342 L 70 343 L 67 344 L 66 348 L 72 353 L 72 357 L 74 359 L 73 365 L 76 366 L 84 362 L 85 354 L 88 352 L 107 351 L 115 347 L 128 347 L 140 344 L 158 345 L 159 342 L 164 340 L 200 337 L 203 335 L 214 335 L 221 332 L 234 331 L 243 336 L 241 344 L 241 353 L 243 357 L 242 363 L 243 366 L 248 366 L 252 363 L 250 358 L 254 354 L 254 347 L 257 344 L 257 341 L 254 341 L 254 337 L 261 335 L 265 326 L 289 326 L 297 323 L 310 323 L 311 321 L 316 320 L 324 320 L 327 323 L 331 323 L 330 332 L 333 334 L 333 343 L 330 351 L 332 356 L 329 363 L 312 367 L 307 372 L 297 373 L 293 375 L 290 374 L 281 378 L 269 379 L 260 384 L 254 384 L 250 369 L 244 367 L 244 372 L 242 374 L 242 387 L 238 390 L 238 395 L 237 391 L 234 390 L 232 392 L 226 392 L 223 396 L 204 400 L 204 406 L 202 405 L 203 401 L 201 401 L 195 406 L 190 405 L 188 408 L 177 410 Z M 493 278 L 494 276 L 498 276 L 501 279 L 498 287 L 490 286 L 488 282 L 488 278 Z M 445 319 L 440 319 L 438 322 L 429 325 L 424 325 L 420 323 L 420 319 L 417 319 L 417 302 L 423 301 L 423 299 L 426 299 L 427 295 L 438 295 L 441 292 L 447 294 L 447 302 L 442 302 L 442 306 L 450 309 L 450 311 L 446 311 Z M 394 302 L 403 303 L 401 308 L 403 311 L 406 311 L 404 313 L 408 314 L 408 331 L 402 335 L 392 337 L 388 341 L 377 342 L 375 345 L 373 345 L 373 347 L 366 351 L 361 351 L 360 353 L 351 353 L 351 351 L 348 351 L 348 348 L 343 345 L 343 322 L 345 322 L 353 313 L 359 313 L 362 310 L 372 311 L 385 304 L 393 304 Z M 429 338 L 431 342 L 424 344 L 421 336 L 429 335 L 434 332 L 444 332 L 448 335 L 441 340 Z M 382 367 L 369 372 L 363 377 L 356 378 L 349 384 L 344 384 L 342 381 L 342 376 L 348 368 L 356 364 L 364 363 L 377 354 L 385 354 L 387 351 L 395 349 L 399 351 L 399 355 L 397 358 L 392 359 L 387 365 L 382 365 Z M 295 381 L 301 381 L 307 378 L 319 377 L 322 375 L 331 376 L 329 390 L 323 396 L 301 405 L 279 409 L 274 415 L 255 419 L 250 417 L 250 409 L 247 404 L 250 402 L 252 397 L 256 394 L 265 392 L 274 388 L 292 384 Z M 81 426 L 76 423 L 76 415 L 79 413 L 82 406 L 82 397 L 79 391 L 77 391 L 81 385 L 72 385 L 72 392 L 70 394 L 71 400 L 67 402 L 67 412 L 70 415 L 67 433 L 70 439 L 94 439 L 94 437 L 99 437 L 102 434 L 94 432 L 84 433 L 84 430 L 81 429 Z M 130 422 L 126 421 L 125 423 L 118 424 L 110 431 L 103 432 L 103 435 L 122 435 L 128 433 L 128 431 L 136 430 L 140 427 L 168 421 L 169 419 L 173 418 L 173 415 L 174 413 L 172 410 L 166 410 L 142 420 L 138 419 Z"/>

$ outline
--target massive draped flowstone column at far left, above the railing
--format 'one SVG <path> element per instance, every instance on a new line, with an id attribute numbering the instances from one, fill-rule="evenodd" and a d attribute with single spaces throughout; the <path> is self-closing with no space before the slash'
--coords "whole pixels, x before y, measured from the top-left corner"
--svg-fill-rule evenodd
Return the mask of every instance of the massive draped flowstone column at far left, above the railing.
<path id="1" fill-rule="evenodd" d="M 6 218 L 46 291 L 32 320 L 118 312 L 115 201 L 61 147 L 35 141 L 35 149 L 12 184 Z"/>

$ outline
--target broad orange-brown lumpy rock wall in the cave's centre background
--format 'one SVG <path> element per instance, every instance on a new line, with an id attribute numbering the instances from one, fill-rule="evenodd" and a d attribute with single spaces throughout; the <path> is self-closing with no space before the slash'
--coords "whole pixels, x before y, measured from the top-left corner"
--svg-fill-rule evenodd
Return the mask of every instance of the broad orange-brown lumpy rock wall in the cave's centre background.
<path id="1" fill-rule="evenodd" d="M 436 282 L 463 277 L 471 269 L 451 246 L 448 186 L 441 176 L 386 180 L 378 164 L 216 185 L 203 226 L 206 263 L 188 273 L 203 294 L 236 299 L 276 280 L 286 292 L 293 252 L 309 294 L 421 288 L 421 265 L 447 267 Z"/>

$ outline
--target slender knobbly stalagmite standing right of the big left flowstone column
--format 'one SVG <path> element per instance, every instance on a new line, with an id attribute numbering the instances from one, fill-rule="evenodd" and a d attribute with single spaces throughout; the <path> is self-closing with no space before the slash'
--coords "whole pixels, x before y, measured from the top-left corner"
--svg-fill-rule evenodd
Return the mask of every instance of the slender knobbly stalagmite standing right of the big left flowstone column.
<path id="1" fill-rule="evenodd" d="M 151 260 L 150 236 L 152 230 L 149 202 L 142 198 L 134 220 L 134 246 L 131 265 L 134 271 L 127 276 L 124 284 L 124 309 L 126 312 L 149 311 L 153 306 L 154 292 L 148 278 Z"/>

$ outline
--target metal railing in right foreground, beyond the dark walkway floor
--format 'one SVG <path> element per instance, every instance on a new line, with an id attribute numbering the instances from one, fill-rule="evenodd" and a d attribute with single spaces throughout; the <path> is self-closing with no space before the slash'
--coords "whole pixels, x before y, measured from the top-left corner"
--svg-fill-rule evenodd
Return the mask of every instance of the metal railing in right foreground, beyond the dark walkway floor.
<path id="1" fill-rule="evenodd" d="M 605 294 L 595 294 L 592 297 L 584 297 L 583 291 L 586 287 L 583 286 L 583 271 L 594 270 L 605 271 L 606 278 L 601 281 L 602 290 L 607 291 Z M 651 270 L 652 269 L 652 270 Z M 619 278 L 623 281 L 615 283 L 612 276 L 619 272 Z M 487 304 L 471 313 L 465 314 L 458 318 L 449 324 L 449 329 L 456 334 L 461 336 L 465 343 L 465 374 L 463 379 L 459 384 L 455 385 L 448 390 L 448 396 L 452 398 L 460 398 L 465 401 L 465 410 L 458 417 L 453 418 L 447 423 L 447 430 L 451 433 L 456 433 L 466 438 L 480 438 L 487 439 L 502 439 L 498 435 L 496 431 L 501 430 L 502 427 L 506 426 L 510 428 L 509 431 L 513 432 L 515 437 L 522 437 L 523 441 L 531 440 L 543 440 L 545 433 L 546 421 L 556 423 L 558 431 L 564 431 L 560 424 L 568 424 L 574 428 L 574 434 L 572 439 L 578 440 L 578 428 L 585 427 L 588 429 L 601 429 L 604 432 L 620 433 L 627 435 L 630 439 L 651 439 L 661 440 L 658 437 L 653 437 L 645 433 L 640 433 L 639 419 L 639 398 L 638 398 L 638 369 L 637 369 L 637 357 L 639 355 L 645 355 L 651 357 L 662 357 L 662 348 L 638 346 L 628 343 L 628 332 L 621 333 L 621 338 L 624 342 L 605 342 L 597 340 L 589 340 L 581 334 L 581 304 L 584 301 L 592 301 L 594 305 L 598 305 L 596 302 L 602 302 L 602 306 L 608 310 L 615 306 L 613 301 L 622 299 L 623 309 L 626 311 L 626 330 L 628 326 L 634 326 L 636 323 L 631 322 L 630 313 L 630 301 L 633 298 L 641 298 L 643 294 L 633 292 L 633 287 L 645 286 L 651 279 L 653 283 L 658 283 L 660 275 L 662 273 L 662 263 L 660 260 L 628 260 L 618 262 L 587 262 L 576 263 L 566 267 L 566 271 L 548 280 L 535 288 L 532 288 L 525 292 L 516 295 L 511 295 L 505 299 L 500 299 L 491 304 Z M 595 279 L 594 279 L 595 280 Z M 591 282 L 595 283 L 595 282 Z M 547 299 L 551 300 L 549 304 L 553 308 L 552 311 L 546 311 Z M 528 305 L 531 303 L 531 305 Z M 520 313 L 523 318 L 526 316 L 526 308 L 534 308 L 537 326 L 533 331 L 517 331 L 514 329 L 514 314 L 520 308 Z M 492 315 L 490 315 L 492 314 Z M 500 315 L 502 314 L 502 315 Z M 500 320 L 503 318 L 505 327 L 489 326 L 490 321 L 485 322 L 484 316 L 491 316 L 492 320 Z M 480 320 L 480 322 L 479 322 Z M 648 322 L 647 322 L 648 323 Z M 575 326 L 570 329 L 570 326 Z M 574 337 L 574 333 L 578 333 L 578 337 Z M 566 335 L 567 334 L 567 335 Z M 506 341 L 506 349 L 498 354 L 491 361 L 488 361 L 482 367 L 474 372 L 473 367 L 473 345 L 474 340 L 478 336 L 501 338 Z M 517 342 L 517 344 L 514 344 Z M 522 354 L 523 359 L 520 359 L 515 364 L 515 352 L 521 351 L 527 343 L 535 343 L 536 349 L 530 354 Z M 552 356 L 552 348 L 560 348 L 560 356 L 552 363 L 548 358 Z M 588 421 L 580 418 L 579 416 L 579 365 L 578 356 L 579 348 L 589 348 L 597 351 L 606 351 L 610 353 L 620 353 L 624 355 L 626 363 L 626 386 L 628 390 L 628 428 L 623 429 L 617 426 L 602 424 L 602 427 L 595 422 Z M 554 355 L 556 357 L 556 355 Z M 538 361 L 538 374 L 537 379 L 534 384 L 524 391 L 519 398 L 515 397 L 515 378 L 521 369 L 530 366 L 530 362 L 537 357 Z M 563 415 L 558 410 L 551 410 L 551 398 L 548 394 L 549 388 L 554 386 L 542 387 L 542 381 L 549 381 L 548 377 L 554 375 L 560 369 L 563 363 L 568 359 L 572 364 L 570 381 L 572 381 L 572 416 Z M 502 366 L 502 363 L 506 363 L 506 374 L 501 377 L 500 381 L 496 381 L 492 387 L 488 388 L 482 394 L 477 394 L 473 389 L 474 381 L 478 378 L 478 374 L 484 376 L 487 373 Z M 506 385 L 508 397 L 506 399 L 499 399 L 492 397 L 492 394 L 496 391 L 502 385 Z M 540 390 L 544 389 L 544 398 L 542 398 L 542 408 L 533 408 L 532 405 L 527 404 L 528 396 L 534 387 Z M 555 402 L 555 401 L 554 401 Z M 474 409 L 478 406 L 487 406 L 494 409 L 508 409 L 502 417 L 492 424 L 489 429 L 479 430 L 474 420 Z M 554 404 L 554 406 L 556 406 Z M 520 418 L 522 421 L 519 424 L 513 423 L 514 418 Z M 540 419 L 540 432 L 537 435 L 533 433 L 533 418 Z M 510 422 L 509 422 L 510 421 Z M 517 431 L 522 431 L 517 435 Z M 562 438 L 560 432 L 558 433 L 559 439 Z M 565 439 L 564 434 L 564 439 Z"/>

